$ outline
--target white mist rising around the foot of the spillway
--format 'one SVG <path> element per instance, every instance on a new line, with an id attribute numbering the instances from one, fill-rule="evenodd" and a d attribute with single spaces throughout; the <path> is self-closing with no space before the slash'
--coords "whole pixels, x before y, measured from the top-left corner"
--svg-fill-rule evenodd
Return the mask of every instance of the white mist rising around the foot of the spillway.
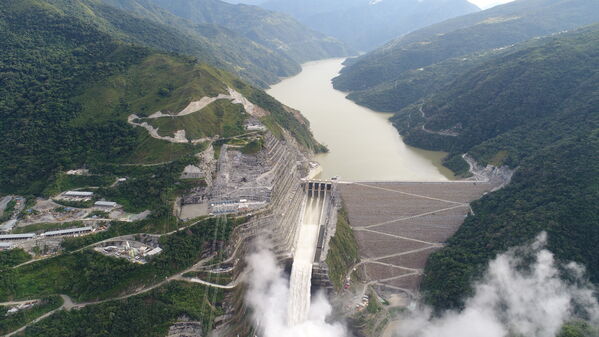
<path id="1" fill-rule="evenodd" d="M 307 321 L 296 326 L 287 325 L 289 282 L 278 266 L 268 244 L 259 241 L 257 250 L 247 259 L 249 267 L 247 304 L 253 309 L 253 319 L 260 331 L 259 337 L 346 337 L 344 325 L 327 323 L 332 307 L 326 297 L 317 295 L 310 307 Z"/>

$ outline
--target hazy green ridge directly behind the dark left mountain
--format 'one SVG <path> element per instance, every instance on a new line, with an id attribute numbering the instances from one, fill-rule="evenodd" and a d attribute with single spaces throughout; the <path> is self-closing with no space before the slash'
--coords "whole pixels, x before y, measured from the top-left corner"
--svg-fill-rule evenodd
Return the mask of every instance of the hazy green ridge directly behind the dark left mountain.
<path id="1" fill-rule="evenodd" d="M 120 40 L 192 55 L 259 86 L 299 71 L 299 65 L 292 59 L 230 30 L 193 25 L 157 7 L 142 13 L 128 13 L 101 0 L 46 2 Z"/>

